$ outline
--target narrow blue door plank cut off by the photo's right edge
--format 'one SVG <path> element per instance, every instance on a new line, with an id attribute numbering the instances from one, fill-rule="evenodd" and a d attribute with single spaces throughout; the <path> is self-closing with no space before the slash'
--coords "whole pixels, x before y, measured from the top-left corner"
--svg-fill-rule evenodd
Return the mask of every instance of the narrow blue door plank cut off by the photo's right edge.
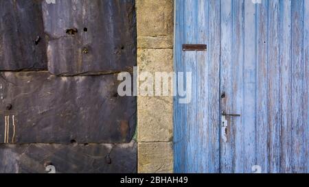
<path id="1" fill-rule="evenodd" d="M 304 149 L 305 172 L 309 172 L 309 1 L 304 1 Z"/>

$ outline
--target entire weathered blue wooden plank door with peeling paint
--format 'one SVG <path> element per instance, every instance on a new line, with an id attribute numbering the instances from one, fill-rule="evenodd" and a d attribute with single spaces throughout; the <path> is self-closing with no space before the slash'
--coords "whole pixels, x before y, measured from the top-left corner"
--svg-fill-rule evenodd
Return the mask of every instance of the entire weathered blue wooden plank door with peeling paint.
<path id="1" fill-rule="evenodd" d="M 309 172 L 309 0 L 175 3 L 174 171 Z"/>

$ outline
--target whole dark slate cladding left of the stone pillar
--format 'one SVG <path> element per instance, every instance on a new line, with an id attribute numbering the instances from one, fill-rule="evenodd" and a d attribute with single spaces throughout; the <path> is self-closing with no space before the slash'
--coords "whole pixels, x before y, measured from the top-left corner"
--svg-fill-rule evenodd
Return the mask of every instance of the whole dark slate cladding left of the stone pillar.
<path id="1" fill-rule="evenodd" d="M 0 0 L 0 173 L 135 173 L 135 64 L 134 0 Z"/>

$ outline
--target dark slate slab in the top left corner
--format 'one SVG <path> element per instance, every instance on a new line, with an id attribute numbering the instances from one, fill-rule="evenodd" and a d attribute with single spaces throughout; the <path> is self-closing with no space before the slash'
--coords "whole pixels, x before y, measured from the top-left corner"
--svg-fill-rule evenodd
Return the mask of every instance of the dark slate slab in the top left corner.
<path id="1" fill-rule="evenodd" d="M 41 1 L 0 1 L 0 70 L 47 69 Z"/>

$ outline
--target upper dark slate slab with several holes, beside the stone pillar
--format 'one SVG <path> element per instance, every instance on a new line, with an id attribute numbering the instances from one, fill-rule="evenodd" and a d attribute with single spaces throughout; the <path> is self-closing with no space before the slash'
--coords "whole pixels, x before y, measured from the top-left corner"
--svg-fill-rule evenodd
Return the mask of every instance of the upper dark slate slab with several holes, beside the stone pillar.
<path id="1" fill-rule="evenodd" d="M 136 64 L 134 0 L 44 2 L 43 19 L 50 73 L 117 72 Z"/>

